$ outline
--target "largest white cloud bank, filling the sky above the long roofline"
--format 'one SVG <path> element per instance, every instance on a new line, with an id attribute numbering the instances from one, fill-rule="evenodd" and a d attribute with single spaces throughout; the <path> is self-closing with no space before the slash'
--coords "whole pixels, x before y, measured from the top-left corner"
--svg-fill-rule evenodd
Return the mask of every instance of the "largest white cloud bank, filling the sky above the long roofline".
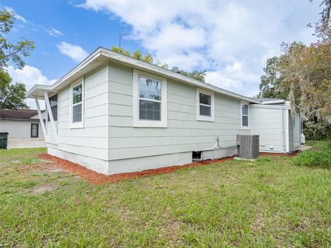
<path id="1" fill-rule="evenodd" d="M 161 63 L 207 70 L 208 83 L 249 96 L 282 41 L 313 41 L 305 25 L 321 12 L 318 1 L 86 0 L 79 7 L 130 25 L 130 38 Z"/>

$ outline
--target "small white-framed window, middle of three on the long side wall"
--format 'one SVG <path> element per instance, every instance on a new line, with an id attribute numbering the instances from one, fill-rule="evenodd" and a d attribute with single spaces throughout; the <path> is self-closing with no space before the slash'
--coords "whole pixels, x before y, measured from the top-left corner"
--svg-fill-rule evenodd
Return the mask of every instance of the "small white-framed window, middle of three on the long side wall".
<path id="1" fill-rule="evenodd" d="M 214 93 L 197 89 L 197 120 L 214 121 Z"/>

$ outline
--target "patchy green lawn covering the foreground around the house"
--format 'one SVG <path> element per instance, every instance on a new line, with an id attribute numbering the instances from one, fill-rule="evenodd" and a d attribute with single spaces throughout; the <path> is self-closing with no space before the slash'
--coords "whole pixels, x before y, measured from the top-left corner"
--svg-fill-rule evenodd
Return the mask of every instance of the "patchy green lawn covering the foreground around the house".
<path id="1" fill-rule="evenodd" d="M 0 247 L 331 246 L 330 170 L 291 157 L 94 186 L 38 152 L 0 150 Z"/>

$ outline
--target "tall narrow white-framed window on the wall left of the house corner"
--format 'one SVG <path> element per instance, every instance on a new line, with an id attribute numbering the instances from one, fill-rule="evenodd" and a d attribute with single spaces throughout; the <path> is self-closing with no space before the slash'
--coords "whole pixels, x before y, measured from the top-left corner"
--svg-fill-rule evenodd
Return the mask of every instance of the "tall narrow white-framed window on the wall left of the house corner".
<path id="1" fill-rule="evenodd" d="M 83 127 L 84 118 L 84 82 L 81 79 L 79 82 L 73 83 L 71 86 L 71 104 L 70 104 L 70 127 L 80 128 Z"/>

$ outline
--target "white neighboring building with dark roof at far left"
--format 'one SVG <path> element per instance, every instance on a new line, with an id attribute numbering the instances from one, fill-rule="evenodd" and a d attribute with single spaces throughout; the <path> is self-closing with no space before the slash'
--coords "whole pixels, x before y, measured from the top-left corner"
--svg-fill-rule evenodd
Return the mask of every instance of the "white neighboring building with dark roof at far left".
<path id="1" fill-rule="evenodd" d="M 37 110 L 0 110 L 0 132 L 8 132 L 8 148 L 46 146 Z"/>

